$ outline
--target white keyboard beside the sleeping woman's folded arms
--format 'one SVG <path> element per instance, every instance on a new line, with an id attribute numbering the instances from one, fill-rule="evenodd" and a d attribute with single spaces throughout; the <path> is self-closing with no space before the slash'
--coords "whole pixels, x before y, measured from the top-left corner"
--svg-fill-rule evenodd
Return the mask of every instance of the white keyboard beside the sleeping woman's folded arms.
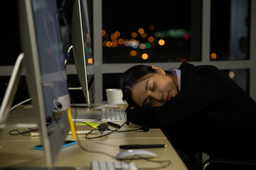
<path id="1" fill-rule="evenodd" d="M 124 123 L 127 120 L 127 114 L 120 108 L 102 108 L 102 122 Z"/>

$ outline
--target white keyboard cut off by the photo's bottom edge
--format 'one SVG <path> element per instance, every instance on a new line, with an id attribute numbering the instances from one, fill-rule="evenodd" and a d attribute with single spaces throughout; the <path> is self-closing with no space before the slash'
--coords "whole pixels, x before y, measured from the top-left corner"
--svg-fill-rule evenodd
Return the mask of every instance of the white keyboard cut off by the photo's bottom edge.
<path id="1" fill-rule="evenodd" d="M 92 161 L 91 170 L 138 170 L 134 162 L 105 162 L 105 161 Z"/>

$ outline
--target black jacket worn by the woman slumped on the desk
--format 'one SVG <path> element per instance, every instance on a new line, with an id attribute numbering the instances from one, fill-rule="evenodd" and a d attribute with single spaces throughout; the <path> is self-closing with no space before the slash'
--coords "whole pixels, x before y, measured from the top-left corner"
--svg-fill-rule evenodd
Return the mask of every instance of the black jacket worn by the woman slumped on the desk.
<path id="1" fill-rule="evenodd" d="M 174 147 L 186 153 L 255 158 L 255 101 L 216 67 L 183 62 L 178 69 L 181 91 L 171 101 L 129 110 L 127 119 L 167 131 Z"/>

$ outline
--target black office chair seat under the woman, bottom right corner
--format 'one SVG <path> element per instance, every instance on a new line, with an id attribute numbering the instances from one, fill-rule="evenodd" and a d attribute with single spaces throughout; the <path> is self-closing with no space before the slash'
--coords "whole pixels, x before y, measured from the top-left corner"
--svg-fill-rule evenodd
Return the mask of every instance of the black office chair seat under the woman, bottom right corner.
<path id="1" fill-rule="evenodd" d="M 224 159 L 224 158 L 213 158 L 203 162 L 202 170 L 255 170 L 256 160 L 239 160 L 239 159 Z"/>

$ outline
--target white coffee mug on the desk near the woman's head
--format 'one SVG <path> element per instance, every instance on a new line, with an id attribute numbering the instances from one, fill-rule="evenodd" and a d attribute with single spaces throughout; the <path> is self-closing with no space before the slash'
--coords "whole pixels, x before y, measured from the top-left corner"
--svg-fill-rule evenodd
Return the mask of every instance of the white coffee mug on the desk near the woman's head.
<path id="1" fill-rule="evenodd" d="M 107 103 L 120 104 L 122 103 L 122 90 L 121 89 L 106 89 Z"/>

